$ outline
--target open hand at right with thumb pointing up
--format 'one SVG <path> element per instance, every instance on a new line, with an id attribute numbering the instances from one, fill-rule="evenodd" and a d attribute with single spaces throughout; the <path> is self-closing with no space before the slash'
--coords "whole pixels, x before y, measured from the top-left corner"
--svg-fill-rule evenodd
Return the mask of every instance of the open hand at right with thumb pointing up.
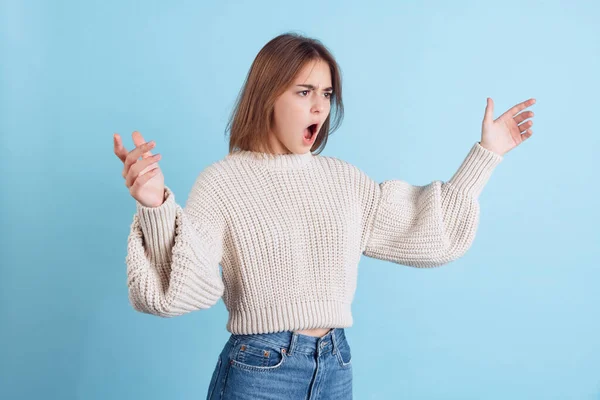
<path id="1" fill-rule="evenodd" d="M 479 144 L 503 156 L 529 139 L 533 134 L 532 130 L 529 129 L 533 125 L 533 121 L 523 121 L 533 117 L 533 111 L 523 112 L 518 115 L 517 113 L 534 103 L 535 99 L 533 98 L 519 103 L 494 121 L 494 101 L 488 97 L 481 129 L 481 142 Z"/>

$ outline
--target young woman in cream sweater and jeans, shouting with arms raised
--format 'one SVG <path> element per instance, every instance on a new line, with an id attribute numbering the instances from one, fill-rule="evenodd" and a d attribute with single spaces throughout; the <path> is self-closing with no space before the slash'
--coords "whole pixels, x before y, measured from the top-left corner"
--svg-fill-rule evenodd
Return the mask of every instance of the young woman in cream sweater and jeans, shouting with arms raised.
<path id="1" fill-rule="evenodd" d="M 208 399 L 352 398 L 344 328 L 360 256 L 413 267 L 461 257 L 492 171 L 532 134 L 533 113 L 517 113 L 533 103 L 494 120 L 488 99 L 481 141 L 447 182 L 377 183 L 319 155 L 343 116 L 332 54 L 297 34 L 272 39 L 233 110 L 229 154 L 198 175 L 185 208 L 155 144 L 134 132 L 128 152 L 115 134 L 137 207 L 125 260 L 133 308 L 173 317 L 223 298 L 231 336 Z"/>

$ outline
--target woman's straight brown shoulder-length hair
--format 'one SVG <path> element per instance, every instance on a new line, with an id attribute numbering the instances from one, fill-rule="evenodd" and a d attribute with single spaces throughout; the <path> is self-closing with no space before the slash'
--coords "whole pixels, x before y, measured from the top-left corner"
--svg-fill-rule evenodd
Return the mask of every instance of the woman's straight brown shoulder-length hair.
<path id="1" fill-rule="evenodd" d="M 311 152 L 317 149 L 315 154 L 319 154 L 325 148 L 328 136 L 339 128 L 344 117 L 340 68 L 319 40 L 288 32 L 271 39 L 252 62 L 227 124 L 229 153 L 260 151 L 264 147 L 273 152 L 268 135 L 273 126 L 275 101 L 307 63 L 318 60 L 329 64 L 333 94 L 330 113 Z M 335 115 L 330 126 L 332 114 Z"/>

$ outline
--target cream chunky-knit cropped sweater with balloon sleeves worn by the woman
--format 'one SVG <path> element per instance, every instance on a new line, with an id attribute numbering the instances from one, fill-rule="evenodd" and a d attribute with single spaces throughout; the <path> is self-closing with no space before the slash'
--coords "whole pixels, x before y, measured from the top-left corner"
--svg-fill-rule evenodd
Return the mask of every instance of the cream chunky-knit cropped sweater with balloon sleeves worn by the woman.
<path id="1" fill-rule="evenodd" d="M 136 202 L 129 299 L 173 317 L 222 297 L 235 334 L 350 327 L 361 255 L 413 267 L 461 257 L 502 158 L 477 142 L 450 180 L 413 186 L 310 152 L 230 153 L 198 175 L 185 208 L 169 187 L 159 207 Z"/>

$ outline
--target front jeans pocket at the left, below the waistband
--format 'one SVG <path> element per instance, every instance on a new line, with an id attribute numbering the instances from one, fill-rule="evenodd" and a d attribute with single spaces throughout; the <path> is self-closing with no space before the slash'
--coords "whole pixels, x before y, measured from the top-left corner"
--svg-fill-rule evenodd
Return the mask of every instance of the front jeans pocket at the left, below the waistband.
<path id="1" fill-rule="evenodd" d="M 240 339 L 232 353 L 231 366 L 250 371 L 274 371 L 285 363 L 283 348 L 253 339 Z"/>

